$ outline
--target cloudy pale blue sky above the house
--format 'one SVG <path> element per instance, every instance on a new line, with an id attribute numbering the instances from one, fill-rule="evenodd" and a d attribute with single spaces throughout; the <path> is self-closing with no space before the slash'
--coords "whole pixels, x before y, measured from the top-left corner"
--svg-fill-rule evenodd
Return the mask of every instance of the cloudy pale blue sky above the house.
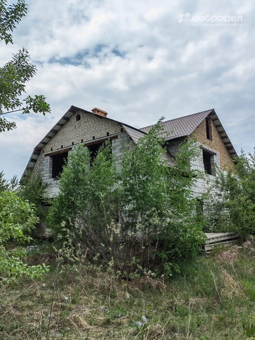
<path id="1" fill-rule="evenodd" d="M 255 1 L 27 0 L 14 44 L 37 73 L 27 95 L 51 114 L 9 114 L 0 170 L 20 178 L 35 145 L 71 105 L 137 128 L 214 108 L 236 151 L 255 146 Z M 7 115 L 6 115 L 7 116 Z M 5 116 L 5 117 L 6 117 Z M 6 117 L 7 118 L 7 117 Z"/>

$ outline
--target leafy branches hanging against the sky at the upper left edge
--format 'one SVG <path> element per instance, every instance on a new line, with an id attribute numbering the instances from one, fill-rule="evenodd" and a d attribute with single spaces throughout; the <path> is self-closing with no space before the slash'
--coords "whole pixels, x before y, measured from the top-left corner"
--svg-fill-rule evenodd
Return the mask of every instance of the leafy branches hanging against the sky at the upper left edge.
<path id="1" fill-rule="evenodd" d="M 9 6 L 6 0 L 0 0 L 0 40 L 5 41 L 5 44 L 13 43 L 13 30 L 26 13 L 27 5 L 24 0 L 18 0 Z M 31 64 L 29 53 L 24 48 L 0 68 L 0 132 L 16 128 L 15 122 L 5 118 L 4 115 L 8 113 L 33 111 L 45 115 L 51 111 L 43 95 L 23 98 L 25 85 L 35 73 L 36 68 Z"/>

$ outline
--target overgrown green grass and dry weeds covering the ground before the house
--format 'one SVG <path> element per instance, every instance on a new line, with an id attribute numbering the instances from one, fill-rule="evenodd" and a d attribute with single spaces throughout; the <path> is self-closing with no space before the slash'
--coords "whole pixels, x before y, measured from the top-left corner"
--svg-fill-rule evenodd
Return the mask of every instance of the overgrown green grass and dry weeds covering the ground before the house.
<path id="1" fill-rule="evenodd" d="M 51 257 L 42 282 L 0 287 L 0 339 L 255 338 L 252 246 L 199 257 L 168 283 L 61 272 Z"/>

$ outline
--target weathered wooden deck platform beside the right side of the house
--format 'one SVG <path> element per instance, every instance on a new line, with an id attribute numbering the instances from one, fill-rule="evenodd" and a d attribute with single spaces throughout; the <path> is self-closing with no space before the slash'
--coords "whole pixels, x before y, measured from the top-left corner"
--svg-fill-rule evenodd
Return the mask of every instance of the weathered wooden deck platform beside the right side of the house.
<path id="1" fill-rule="evenodd" d="M 209 255 L 214 248 L 230 247 L 238 239 L 234 233 L 205 233 L 206 241 L 202 246 L 202 254 Z"/>

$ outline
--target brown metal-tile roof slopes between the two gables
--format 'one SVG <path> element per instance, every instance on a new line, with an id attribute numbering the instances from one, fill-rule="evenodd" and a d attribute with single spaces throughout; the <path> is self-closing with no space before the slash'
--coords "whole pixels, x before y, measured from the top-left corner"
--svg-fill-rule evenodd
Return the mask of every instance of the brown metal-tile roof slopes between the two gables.
<path id="1" fill-rule="evenodd" d="M 206 110 L 192 115 L 170 119 L 163 121 L 164 132 L 166 133 L 166 140 L 181 138 L 189 136 L 202 121 L 214 111 L 214 109 Z M 148 133 L 154 125 L 146 126 L 140 130 Z"/>

